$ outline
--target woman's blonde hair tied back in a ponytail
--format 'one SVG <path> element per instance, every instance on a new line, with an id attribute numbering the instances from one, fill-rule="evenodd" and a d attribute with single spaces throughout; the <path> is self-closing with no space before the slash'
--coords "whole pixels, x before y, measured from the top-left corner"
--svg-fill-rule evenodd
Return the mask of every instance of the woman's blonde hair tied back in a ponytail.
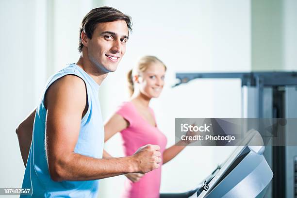
<path id="1" fill-rule="evenodd" d="M 133 76 L 138 75 L 140 72 L 146 71 L 150 64 L 158 63 L 158 62 L 164 66 L 166 71 L 167 68 L 160 59 L 158 59 L 155 56 L 144 56 L 138 61 L 137 65 L 128 72 L 127 80 L 128 80 L 128 88 L 129 88 L 130 96 L 132 96 L 134 92 Z"/>

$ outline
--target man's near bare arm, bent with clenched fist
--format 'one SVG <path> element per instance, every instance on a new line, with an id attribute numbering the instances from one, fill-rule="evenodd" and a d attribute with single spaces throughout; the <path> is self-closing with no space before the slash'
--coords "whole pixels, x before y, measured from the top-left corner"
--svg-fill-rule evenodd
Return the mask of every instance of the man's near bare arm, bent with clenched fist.
<path id="1" fill-rule="evenodd" d="M 46 151 L 54 181 L 82 181 L 113 177 L 130 172 L 145 173 L 158 168 L 159 146 L 148 145 L 129 157 L 96 159 L 74 153 L 86 90 L 82 79 L 65 76 L 54 82 L 46 96 Z"/>

